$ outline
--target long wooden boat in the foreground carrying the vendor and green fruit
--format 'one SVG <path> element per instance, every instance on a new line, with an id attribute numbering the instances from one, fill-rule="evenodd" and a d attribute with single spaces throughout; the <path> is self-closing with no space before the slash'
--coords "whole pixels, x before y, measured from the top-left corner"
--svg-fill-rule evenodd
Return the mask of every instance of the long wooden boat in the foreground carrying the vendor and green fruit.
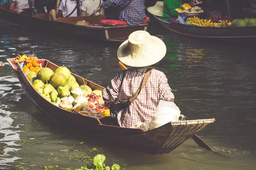
<path id="1" fill-rule="evenodd" d="M 12 68 L 16 71 L 17 77 L 31 102 L 35 105 L 39 112 L 49 115 L 52 119 L 64 123 L 90 133 L 107 136 L 110 142 L 120 147 L 140 151 L 148 154 L 163 154 L 169 153 L 178 147 L 180 144 L 189 139 L 198 131 L 207 127 L 210 123 L 215 122 L 215 119 L 187 120 L 169 122 L 166 125 L 158 127 L 154 130 L 143 132 L 140 129 L 117 127 L 117 121 L 111 116 L 102 119 L 94 119 L 87 116 L 82 116 L 78 113 L 66 111 L 48 102 L 42 97 L 33 87 L 29 79 L 26 77 L 20 63 L 14 62 L 14 59 L 7 59 Z M 49 62 L 46 59 L 38 59 L 43 67 L 47 64 L 48 68 L 53 71 L 58 68 L 57 65 Z M 80 85 L 84 81 L 93 90 L 103 90 L 104 88 L 87 79 L 83 79 L 75 74 L 72 74 Z"/>

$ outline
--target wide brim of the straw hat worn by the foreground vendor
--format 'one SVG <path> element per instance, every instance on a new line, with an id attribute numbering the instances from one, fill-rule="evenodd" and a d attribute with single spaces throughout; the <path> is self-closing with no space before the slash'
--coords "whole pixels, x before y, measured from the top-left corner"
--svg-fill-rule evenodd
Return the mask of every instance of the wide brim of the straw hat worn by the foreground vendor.
<path id="1" fill-rule="evenodd" d="M 150 36 L 151 41 L 147 49 L 143 49 L 143 52 L 132 53 L 129 48 L 129 41 L 123 42 L 118 50 L 117 57 L 125 65 L 131 67 L 146 67 L 159 62 L 166 55 L 166 45 L 158 37 Z"/>

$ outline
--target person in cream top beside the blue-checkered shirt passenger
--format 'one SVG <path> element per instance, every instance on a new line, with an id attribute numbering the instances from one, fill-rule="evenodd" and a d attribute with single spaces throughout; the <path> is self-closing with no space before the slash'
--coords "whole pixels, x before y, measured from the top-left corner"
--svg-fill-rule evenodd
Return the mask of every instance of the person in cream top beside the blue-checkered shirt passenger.
<path id="1" fill-rule="evenodd" d="M 81 16 L 92 16 L 92 15 L 100 15 L 102 14 L 103 11 L 101 12 L 96 12 L 94 14 L 95 9 L 102 4 L 102 0 L 84 0 L 83 5 L 82 5 L 82 13 Z"/>

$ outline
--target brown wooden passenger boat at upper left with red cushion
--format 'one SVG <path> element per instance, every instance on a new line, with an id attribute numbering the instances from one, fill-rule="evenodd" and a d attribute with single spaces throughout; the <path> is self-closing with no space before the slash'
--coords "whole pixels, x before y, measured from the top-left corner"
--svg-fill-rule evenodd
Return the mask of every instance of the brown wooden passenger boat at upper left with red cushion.
<path id="1" fill-rule="evenodd" d="M 26 28 L 49 32 L 78 38 L 82 40 L 108 40 L 108 41 L 125 41 L 129 35 L 138 30 L 146 30 L 148 24 L 140 24 L 136 27 L 128 26 L 84 26 L 77 25 L 77 21 L 85 20 L 90 24 L 99 24 L 105 16 L 96 17 L 62 17 L 52 21 L 49 20 L 49 14 L 37 14 L 33 17 L 23 14 L 17 14 L 8 10 L 9 3 L 0 5 L 0 19 L 24 26 Z"/>

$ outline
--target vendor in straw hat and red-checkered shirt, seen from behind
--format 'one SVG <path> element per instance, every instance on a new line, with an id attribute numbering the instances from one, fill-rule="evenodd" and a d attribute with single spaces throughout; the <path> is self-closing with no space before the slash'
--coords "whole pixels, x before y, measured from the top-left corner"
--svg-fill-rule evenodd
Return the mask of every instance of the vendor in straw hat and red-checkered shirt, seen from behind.
<path id="1" fill-rule="evenodd" d="M 166 54 L 166 45 L 146 31 L 135 31 L 120 45 L 118 59 L 132 68 L 124 70 L 111 80 L 102 92 L 106 104 L 118 100 L 113 107 L 121 127 L 132 127 L 139 122 L 149 122 L 160 100 L 172 101 L 174 95 L 163 72 L 151 70 L 151 74 L 139 95 L 130 105 L 128 99 L 140 88 L 148 66 L 159 62 Z M 111 108 L 111 111 L 113 109 Z"/>

